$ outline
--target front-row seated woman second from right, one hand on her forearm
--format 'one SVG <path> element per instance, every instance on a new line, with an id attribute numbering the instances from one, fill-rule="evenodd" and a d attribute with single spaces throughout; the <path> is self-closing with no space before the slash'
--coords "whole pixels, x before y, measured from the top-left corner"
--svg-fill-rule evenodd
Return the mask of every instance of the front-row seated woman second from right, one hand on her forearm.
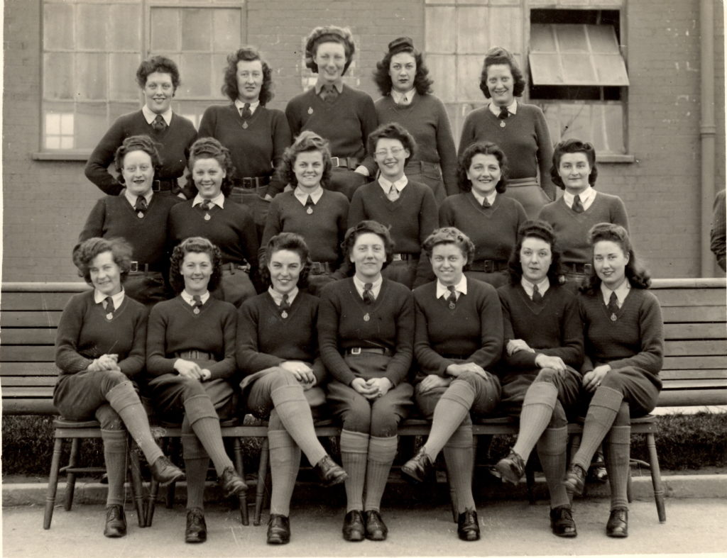
<path id="1" fill-rule="evenodd" d="M 547 223 L 527 221 L 510 256 L 510 284 L 497 290 L 502 303 L 507 356 L 501 361 L 502 406 L 519 416 L 515 446 L 497 463 L 502 479 L 518 483 L 537 444 L 550 490 L 550 528 L 577 535 L 571 503 L 561 484 L 566 472 L 568 417 L 581 385 L 583 330 L 576 297 L 559 282 L 561 253 Z"/>

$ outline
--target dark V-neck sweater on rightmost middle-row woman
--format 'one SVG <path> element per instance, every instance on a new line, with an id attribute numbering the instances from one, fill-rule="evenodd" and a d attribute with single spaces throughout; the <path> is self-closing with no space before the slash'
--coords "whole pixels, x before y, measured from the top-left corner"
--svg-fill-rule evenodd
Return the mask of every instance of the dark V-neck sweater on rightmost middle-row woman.
<path id="1" fill-rule="evenodd" d="M 629 229 L 624 202 L 618 196 L 596 192 L 593 203 L 583 213 L 576 213 L 561 199 L 545 205 L 539 219 L 553 226 L 558 246 L 563 251 L 563 261 L 568 263 L 590 263 L 591 247 L 588 231 L 596 223 L 614 223 Z"/>

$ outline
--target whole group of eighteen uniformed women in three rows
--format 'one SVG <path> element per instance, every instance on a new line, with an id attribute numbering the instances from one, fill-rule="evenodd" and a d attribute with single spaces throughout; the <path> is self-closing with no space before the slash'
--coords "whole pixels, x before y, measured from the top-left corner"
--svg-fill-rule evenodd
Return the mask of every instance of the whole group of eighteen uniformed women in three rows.
<path id="1" fill-rule="evenodd" d="M 126 533 L 124 429 L 156 480 L 186 476 L 193 543 L 206 540 L 210 459 L 226 493 L 246 490 L 219 420 L 252 413 L 269 421 L 268 543 L 289 542 L 301 453 L 321 483 L 344 483 L 344 538 L 382 541 L 398 424 L 418 411 L 431 432 L 402 472 L 425 480 L 443 452 L 462 540 L 480 538 L 472 417 L 498 413 L 520 417 L 520 432 L 497 469 L 517 483 L 537 447 L 557 536 L 577 533 L 572 493 L 603 443 L 606 533 L 627 536 L 629 419 L 656 403 L 662 322 L 622 201 L 593 188 L 593 146 L 553 150 L 496 48 L 481 78 L 491 103 L 467 117 L 458 159 L 411 39 L 377 65 L 376 103 L 342 83 L 354 52 L 350 31 L 313 30 L 318 81 L 284 115 L 265 107 L 270 67 L 238 50 L 232 104 L 206 110 L 198 133 L 169 108 L 177 67 L 153 57 L 137 72 L 145 106 L 89 159 L 108 195 L 73 250 L 93 290 L 63 312 L 55 404 L 102 424 L 105 535 Z M 137 390 L 182 425 L 184 473 L 153 442 Z M 586 408 L 566 469 L 567 423 Z M 324 409 L 342 426 L 341 465 L 316 438 Z"/>

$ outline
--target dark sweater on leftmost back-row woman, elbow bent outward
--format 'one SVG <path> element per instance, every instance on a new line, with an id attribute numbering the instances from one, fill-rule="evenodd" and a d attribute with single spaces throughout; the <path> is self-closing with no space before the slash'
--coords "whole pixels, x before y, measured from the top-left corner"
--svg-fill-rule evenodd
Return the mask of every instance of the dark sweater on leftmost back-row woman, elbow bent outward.
<path id="1" fill-rule="evenodd" d="M 158 132 L 147 123 L 144 113 L 140 110 L 129 112 L 119 116 L 108 128 L 106 134 L 98 142 L 86 163 L 86 178 L 106 194 L 119 195 L 124 189 L 124 184 L 116 180 L 108 172 L 108 165 L 113 163 L 116 149 L 121 147 L 124 139 L 129 136 L 149 136 L 156 141 L 159 155 L 161 156 L 161 168 L 154 176 L 157 180 L 178 179 L 185 171 L 189 148 L 197 139 L 197 131 L 190 120 L 178 115 L 172 115 L 172 120 L 164 131 Z"/>

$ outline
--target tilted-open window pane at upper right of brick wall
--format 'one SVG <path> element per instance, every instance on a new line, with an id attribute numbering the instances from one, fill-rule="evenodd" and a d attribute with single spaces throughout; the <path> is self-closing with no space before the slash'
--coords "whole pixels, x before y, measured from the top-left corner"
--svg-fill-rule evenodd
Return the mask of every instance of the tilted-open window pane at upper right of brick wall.
<path id="1" fill-rule="evenodd" d="M 536 86 L 627 86 L 626 64 L 610 25 L 533 24 L 530 73 Z"/>

